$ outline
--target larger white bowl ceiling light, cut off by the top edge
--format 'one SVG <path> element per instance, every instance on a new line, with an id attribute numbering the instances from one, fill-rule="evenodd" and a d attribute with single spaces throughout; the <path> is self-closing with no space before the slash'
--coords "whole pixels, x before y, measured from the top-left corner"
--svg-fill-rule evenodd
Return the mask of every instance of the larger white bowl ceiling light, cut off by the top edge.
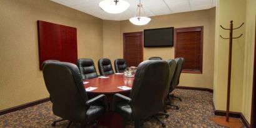
<path id="1" fill-rule="evenodd" d="M 112 14 L 124 12 L 129 6 L 129 2 L 124 0 L 104 0 L 99 2 L 99 7 L 102 10 Z"/>

